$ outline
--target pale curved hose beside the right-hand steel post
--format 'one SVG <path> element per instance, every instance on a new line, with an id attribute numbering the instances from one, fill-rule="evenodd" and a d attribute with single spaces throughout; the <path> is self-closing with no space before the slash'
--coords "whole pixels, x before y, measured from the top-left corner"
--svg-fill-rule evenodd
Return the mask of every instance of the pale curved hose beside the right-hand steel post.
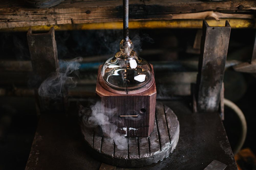
<path id="1" fill-rule="evenodd" d="M 224 99 L 224 105 L 226 105 L 229 108 L 231 108 L 237 114 L 237 116 L 240 119 L 241 126 L 242 126 L 242 131 L 241 131 L 241 134 L 240 134 L 240 138 L 239 138 L 238 144 L 236 144 L 236 146 L 234 148 L 234 151 L 233 151 L 233 153 L 236 154 L 236 153 L 238 153 L 241 150 L 241 148 L 243 146 L 243 143 L 245 141 L 245 138 L 246 138 L 246 132 L 247 132 L 246 119 L 245 119 L 244 114 L 241 111 L 241 109 L 236 104 L 231 102 L 230 100 Z"/>

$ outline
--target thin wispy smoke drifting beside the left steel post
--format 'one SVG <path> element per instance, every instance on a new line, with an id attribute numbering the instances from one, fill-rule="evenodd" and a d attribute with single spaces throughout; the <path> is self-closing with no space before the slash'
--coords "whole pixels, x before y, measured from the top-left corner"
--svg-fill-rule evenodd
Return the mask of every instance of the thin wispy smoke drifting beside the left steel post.
<path id="1" fill-rule="evenodd" d="M 51 99 L 66 96 L 67 88 L 76 87 L 77 81 L 75 81 L 74 76 L 79 76 L 78 69 L 81 66 L 79 62 L 82 60 L 82 57 L 76 57 L 69 61 L 60 60 L 60 67 L 44 80 L 38 88 L 39 95 Z"/>

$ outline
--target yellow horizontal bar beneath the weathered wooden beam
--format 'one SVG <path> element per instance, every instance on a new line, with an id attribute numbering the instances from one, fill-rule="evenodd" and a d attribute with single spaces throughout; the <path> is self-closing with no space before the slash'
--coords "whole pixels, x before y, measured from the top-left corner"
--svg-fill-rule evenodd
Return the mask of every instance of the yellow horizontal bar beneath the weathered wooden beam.
<path id="1" fill-rule="evenodd" d="M 206 20 L 209 26 L 223 27 L 228 20 L 231 28 L 256 28 L 255 19 L 221 19 Z M 122 22 L 101 22 L 64 25 L 41 25 L 31 26 L 33 31 L 48 31 L 51 27 L 55 30 L 93 30 L 93 29 L 122 29 Z M 27 31 L 30 27 L 16 27 L 0 29 L 4 31 Z M 156 29 L 156 28 L 202 28 L 202 20 L 151 20 L 151 21 L 129 21 L 130 29 Z"/>

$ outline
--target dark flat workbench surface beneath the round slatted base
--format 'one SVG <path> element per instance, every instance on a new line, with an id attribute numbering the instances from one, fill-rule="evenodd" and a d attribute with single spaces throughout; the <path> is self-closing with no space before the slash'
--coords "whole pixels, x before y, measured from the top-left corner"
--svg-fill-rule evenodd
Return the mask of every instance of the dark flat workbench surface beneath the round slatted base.
<path id="1" fill-rule="evenodd" d="M 133 169 L 204 169 L 213 160 L 237 169 L 225 129 L 217 113 L 192 113 L 184 102 L 163 102 L 177 115 L 180 138 L 161 162 Z M 87 152 L 77 119 L 41 115 L 26 169 L 99 169 L 101 162 Z M 132 169 L 121 168 L 116 169 Z"/>

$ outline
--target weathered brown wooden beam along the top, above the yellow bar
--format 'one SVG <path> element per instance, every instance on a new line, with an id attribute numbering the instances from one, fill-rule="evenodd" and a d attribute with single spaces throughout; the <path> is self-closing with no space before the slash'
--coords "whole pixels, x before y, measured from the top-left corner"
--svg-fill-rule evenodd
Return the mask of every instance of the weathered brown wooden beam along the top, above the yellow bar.
<path id="1" fill-rule="evenodd" d="M 79 23 L 122 21 L 122 1 L 64 1 L 57 6 L 43 9 L 20 5 L 19 1 L 1 0 L 0 29 Z M 225 2 L 186 1 L 140 1 L 129 2 L 130 20 L 171 19 L 220 19 L 253 18 L 248 14 L 256 8 L 253 0 L 228 0 Z M 213 12 L 217 11 L 217 12 Z M 224 13 L 219 13 L 224 12 Z M 193 15 L 184 13 L 195 13 Z"/>

